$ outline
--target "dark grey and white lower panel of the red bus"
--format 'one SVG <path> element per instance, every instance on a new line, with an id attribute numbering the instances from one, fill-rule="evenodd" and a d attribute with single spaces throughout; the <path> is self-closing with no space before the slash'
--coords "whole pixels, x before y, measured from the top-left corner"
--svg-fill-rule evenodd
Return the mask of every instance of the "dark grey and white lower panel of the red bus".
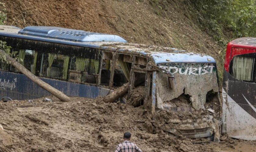
<path id="1" fill-rule="evenodd" d="M 256 85 L 228 75 L 223 89 L 222 132 L 243 140 L 256 140 Z"/>

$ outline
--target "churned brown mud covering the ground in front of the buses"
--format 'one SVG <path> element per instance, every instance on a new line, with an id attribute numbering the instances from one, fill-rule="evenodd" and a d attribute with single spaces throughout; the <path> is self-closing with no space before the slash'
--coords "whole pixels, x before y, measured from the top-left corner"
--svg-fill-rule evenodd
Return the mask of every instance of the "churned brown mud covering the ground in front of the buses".
<path id="1" fill-rule="evenodd" d="M 141 106 L 77 97 L 71 102 L 52 100 L 0 102 L 0 151 L 113 151 L 126 131 L 132 133 L 131 141 L 145 152 L 255 151 L 256 141 L 223 136 L 219 143 L 208 143 L 207 139 L 172 136 L 160 130 Z"/>

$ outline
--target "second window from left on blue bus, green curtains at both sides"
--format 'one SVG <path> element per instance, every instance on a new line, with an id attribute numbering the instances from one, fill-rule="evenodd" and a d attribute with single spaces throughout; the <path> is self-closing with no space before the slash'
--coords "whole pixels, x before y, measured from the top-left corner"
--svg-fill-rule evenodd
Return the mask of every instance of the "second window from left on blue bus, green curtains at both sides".
<path id="1" fill-rule="evenodd" d="M 66 80 L 68 74 L 69 56 L 59 54 L 42 54 L 40 76 Z"/>

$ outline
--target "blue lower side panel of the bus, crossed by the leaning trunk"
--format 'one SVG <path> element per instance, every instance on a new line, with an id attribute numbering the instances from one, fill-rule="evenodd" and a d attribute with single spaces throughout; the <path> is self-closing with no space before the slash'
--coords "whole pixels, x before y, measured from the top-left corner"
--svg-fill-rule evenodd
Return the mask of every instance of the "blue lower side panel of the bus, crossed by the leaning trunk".
<path id="1" fill-rule="evenodd" d="M 109 89 L 91 85 L 41 78 L 44 82 L 60 90 L 68 96 L 96 98 L 105 96 Z M 0 98 L 10 97 L 13 100 L 40 98 L 50 95 L 49 92 L 35 84 L 23 74 L 0 71 Z"/>

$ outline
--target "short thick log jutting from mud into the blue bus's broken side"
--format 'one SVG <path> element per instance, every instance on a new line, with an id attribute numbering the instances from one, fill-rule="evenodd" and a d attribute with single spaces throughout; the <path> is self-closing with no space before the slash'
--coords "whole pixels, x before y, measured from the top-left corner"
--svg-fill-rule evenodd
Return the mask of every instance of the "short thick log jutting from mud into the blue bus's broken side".
<path id="1" fill-rule="evenodd" d="M 106 95 L 104 97 L 104 102 L 106 102 L 106 103 L 114 102 L 118 98 L 120 98 L 123 95 L 125 95 L 128 92 L 128 89 L 129 89 L 129 85 L 128 84 L 124 84 L 122 87 L 119 87 L 114 92 Z"/>

